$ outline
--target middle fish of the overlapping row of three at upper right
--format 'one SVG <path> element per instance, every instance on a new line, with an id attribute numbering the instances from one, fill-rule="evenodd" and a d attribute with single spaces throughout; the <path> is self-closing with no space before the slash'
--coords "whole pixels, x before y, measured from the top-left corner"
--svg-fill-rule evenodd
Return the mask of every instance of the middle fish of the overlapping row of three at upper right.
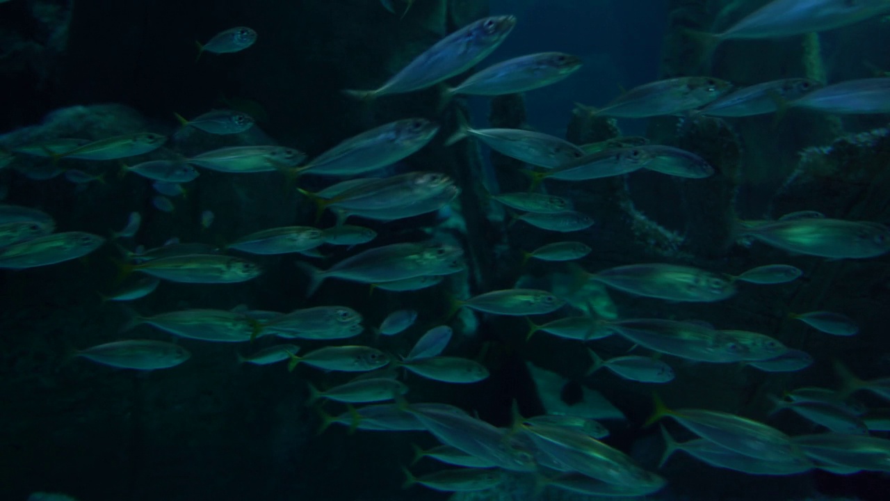
<path id="1" fill-rule="evenodd" d="M 810 94 L 823 85 L 810 78 L 782 78 L 739 90 L 693 111 L 694 116 L 740 118 L 781 111 L 789 103 Z"/>

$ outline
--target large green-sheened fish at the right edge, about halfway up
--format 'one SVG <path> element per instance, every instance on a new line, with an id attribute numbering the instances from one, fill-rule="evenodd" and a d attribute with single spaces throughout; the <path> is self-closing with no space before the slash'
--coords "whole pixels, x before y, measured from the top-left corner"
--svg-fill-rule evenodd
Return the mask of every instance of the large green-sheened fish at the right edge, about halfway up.
<path id="1" fill-rule="evenodd" d="M 890 251 L 890 228 L 870 221 L 813 217 L 740 221 L 737 232 L 781 250 L 829 259 L 875 258 Z"/>

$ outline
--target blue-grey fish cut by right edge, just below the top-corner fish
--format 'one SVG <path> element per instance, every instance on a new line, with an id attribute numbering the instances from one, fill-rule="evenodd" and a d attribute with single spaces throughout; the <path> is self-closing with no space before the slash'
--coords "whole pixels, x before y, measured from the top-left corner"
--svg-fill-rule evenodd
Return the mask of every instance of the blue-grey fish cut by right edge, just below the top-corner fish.
<path id="1" fill-rule="evenodd" d="M 890 113 L 890 78 L 862 78 L 824 86 L 789 106 L 837 114 Z"/>

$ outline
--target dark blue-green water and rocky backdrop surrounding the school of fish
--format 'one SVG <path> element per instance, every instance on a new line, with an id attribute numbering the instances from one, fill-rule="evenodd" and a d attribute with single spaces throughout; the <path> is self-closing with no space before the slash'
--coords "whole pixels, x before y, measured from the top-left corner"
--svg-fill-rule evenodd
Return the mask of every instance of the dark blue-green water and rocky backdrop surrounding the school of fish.
<path id="1" fill-rule="evenodd" d="M 734 10 L 721 14 L 725 4 Z M 0 3 L 0 165 L 9 160 L 0 167 L 2 203 L 43 211 L 53 218 L 54 234 L 78 231 L 107 239 L 84 256 L 25 269 L 12 269 L 4 261 L 9 250 L 0 248 L 0 499 L 50 498 L 36 493 L 64 493 L 81 501 L 448 499 L 449 493 L 419 485 L 402 489 L 403 467 L 417 476 L 449 468 L 429 458 L 411 464 L 412 445 L 432 448 L 440 443 L 431 433 L 350 431 L 342 424 L 318 433 L 323 415 L 345 414 L 346 424 L 361 422 L 351 422 L 349 407 L 340 402 L 307 404 L 309 384 L 329 390 L 359 373 L 328 372 L 306 363 L 293 372 L 287 362 L 238 363 L 239 354 L 287 342 L 299 345 L 301 355 L 327 346 L 380 349 L 392 358 L 392 367 L 440 324 L 454 331 L 443 354 L 480 364 L 488 377 L 458 384 L 404 368 L 384 371 L 384 377 L 398 377 L 408 388 L 407 403 L 398 405 L 447 403 L 469 413 L 468 420 L 505 429 L 514 421 L 514 403 L 526 417 L 596 417 L 609 430 L 604 444 L 665 480 L 664 488 L 646 499 L 890 499 L 890 448 L 861 472 L 811 469 L 752 475 L 682 453 L 659 468 L 664 443 L 656 426 L 643 427 L 657 391 L 672 408 L 738 415 L 792 437 L 832 433 L 790 410 L 771 414 L 770 398 L 803 387 L 843 388 L 836 362 L 862 380 L 885 378 L 883 398 L 877 391 L 855 391 L 857 408 L 869 409 L 866 416 L 886 416 L 890 407 L 890 261 L 885 251 L 865 258 L 846 255 L 860 244 L 860 234 L 837 239 L 835 249 L 842 255 L 826 257 L 733 233 L 737 219 L 776 219 L 801 210 L 845 221 L 890 222 L 886 113 L 786 110 L 787 103 L 780 103 L 777 113 L 740 119 L 692 119 L 684 111 L 680 116 L 612 120 L 573 112 L 575 103 L 602 107 L 622 89 L 662 78 L 708 76 L 743 87 L 780 78 L 837 83 L 886 77 L 890 70 L 888 25 L 881 15 L 818 37 L 727 41 L 710 58 L 686 31 L 724 29 L 763 4 L 417 0 L 400 20 L 376 0 Z M 380 86 L 446 33 L 506 13 L 517 16 L 516 28 L 465 75 L 542 51 L 577 55 L 584 62 L 581 69 L 524 94 L 457 97 L 447 105 L 440 103 L 439 86 L 367 103 L 341 92 Z M 255 45 L 237 53 L 203 53 L 196 61 L 196 39 L 206 42 L 235 26 L 255 29 Z M 453 86 L 464 78 L 447 82 Z M 174 119 L 174 113 L 192 119 L 214 109 L 247 113 L 255 126 L 220 136 L 182 129 Z M 575 232 L 548 231 L 514 221 L 513 212 L 486 193 L 527 192 L 529 166 L 473 139 L 446 146 L 460 113 L 473 127 L 525 128 L 578 145 L 645 136 L 650 144 L 699 155 L 714 173 L 683 178 L 643 169 L 587 181 L 546 180 L 538 191 L 571 201 L 574 210 L 594 220 Z M 334 211 L 327 209 L 318 218 L 312 198 L 296 188 L 315 193 L 349 178 L 307 174 L 294 179 L 278 172 L 281 165 L 275 162 L 268 171 L 239 174 L 198 166 L 199 177 L 183 184 L 185 194 L 169 195 L 171 212 L 158 209 L 153 181 L 132 172 L 119 174 L 122 162 L 132 166 L 144 160 L 177 160 L 234 145 L 286 146 L 312 160 L 363 131 L 415 117 L 441 126 L 429 144 L 392 165 L 352 177 L 441 173 L 460 189 L 453 200 L 390 222 L 353 216 L 349 224 L 374 230 L 376 238 L 354 246 L 320 245 L 321 259 L 229 249 L 226 255 L 263 268 L 261 275 L 244 282 L 165 279 L 141 299 L 102 299 L 146 275 L 126 264 L 124 251 L 138 251 L 139 246 L 157 248 L 175 238 L 225 247 L 275 227 L 334 227 Z M 30 154 L 12 152 L 58 138 L 94 141 L 139 132 L 166 136 L 164 148 L 109 160 L 64 155 L 53 160 L 40 147 Z M 101 176 L 101 181 L 74 183 L 69 179 L 72 169 L 86 177 Z M 399 192 L 395 198 L 415 194 Z M 114 238 L 132 213 L 140 214 L 138 231 Z M 208 213 L 213 214 L 211 224 Z M 9 219 L 0 221 L 4 223 Z M 886 238 L 886 227 L 863 224 L 862 232 L 882 249 L 882 241 L 875 239 Z M 433 287 L 368 293 L 368 283 L 330 278 L 306 297 L 310 280 L 296 263 L 327 269 L 367 250 L 430 240 L 463 252 L 463 269 Z M 563 241 L 583 242 L 591 251 L 574 262 L 523 261 L 523 252 Z M 384 267 L 396 269 L 403 263 Z M 772 285 L 736 282 L 732 286 L 737 292 L 724 300 L 678 301 L 606 289 L 579 271 L 643 263 L 696 267 L 723 284 L 748 269 L 773 264 L 797 267 L 802 276 Z M 417 273 L 424 275 L 430 268 Z M 541 290 L 569 304 L 544 315 L 522 310 L 528 305 L 514 305 L 513 315 L 470 308 L 454 313 L 455 300 L 514 288 Z M 246 310 L 286 313 L 336 306 L 358 312 L 363 332 L 327 341 L 276 341 L 274 335 L 261 335 L 255 341 L 242 336 L 239 342 L 211 342 L 148 324 L 133 327 L 140 316 L 197 308 L 239 316 Z M 374 329 L 384 318 L 400 309 L 416 310 L 417 322 L 403 333 L 376 335 Z M 858 333 L 831 335 L 790 317 L 813 311 L 843 314 Z M 814 362 L 794 372 L 767 373 L 740 360 L 691 360 L 645 346 L 628 353 L 635 341 L 621 335 L 587 343 L 544 332 L 526 339 L 524 313 L 535 324 L 584 315 L 599 319 L 601 327 L 617 318 L 694 321 L 711 330 L 765 334 L 805 351 Z M 239 318 L 260 334 L 271 333 L 264 321 Z M 77 350 L 137 339 L 173 343 L 190 357 L 153 371 L 75 357 Z M 585 346 L 605 359 L 654 354 L 676 377 L 655 384 L 630 381 L 606 368 L 588 374 L 591 358 Z M 663 423 L 677 439 L 696 438 L 674 420 Z M 874 426 L 871 437 L 888 439 L 886 426 L 884 431 Z M 530 431 L 510 433 L 525 436 Z M 496 440 L 496 445 L 508 440 Z M 538 473 L 556 474 L 540 463 L 538 456 Z M 453 498 L 599 498 L 553 487 L 536 489 L 541 478 L 505 473 L 494 489 Z"/>

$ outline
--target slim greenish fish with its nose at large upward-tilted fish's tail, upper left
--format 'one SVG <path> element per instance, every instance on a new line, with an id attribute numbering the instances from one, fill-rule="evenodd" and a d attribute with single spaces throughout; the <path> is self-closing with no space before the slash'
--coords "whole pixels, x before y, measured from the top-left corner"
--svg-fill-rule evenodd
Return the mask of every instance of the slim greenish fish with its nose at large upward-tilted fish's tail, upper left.
<path id="1" fill-rule="evenodd" d="M 305 158 L 305 153 L 284 146 L 230 146 L 182 161 L 217 172 L 239 174 L 290 168 Z"/>

